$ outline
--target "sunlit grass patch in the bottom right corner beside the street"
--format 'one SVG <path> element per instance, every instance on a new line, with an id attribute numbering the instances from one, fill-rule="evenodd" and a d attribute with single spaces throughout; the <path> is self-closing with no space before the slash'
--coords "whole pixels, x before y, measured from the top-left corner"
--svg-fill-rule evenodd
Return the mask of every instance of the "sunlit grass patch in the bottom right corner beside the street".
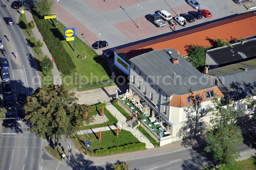
<path id="1" fill-rule="evenodd" d="M 212 167 L 204 170 L 212 170 Z M 216 170 L 256 170 L 256 157 L 250 157 L 249 159 L 238 161 L 236 165 L 226 166 L 220 165 Z"/>

